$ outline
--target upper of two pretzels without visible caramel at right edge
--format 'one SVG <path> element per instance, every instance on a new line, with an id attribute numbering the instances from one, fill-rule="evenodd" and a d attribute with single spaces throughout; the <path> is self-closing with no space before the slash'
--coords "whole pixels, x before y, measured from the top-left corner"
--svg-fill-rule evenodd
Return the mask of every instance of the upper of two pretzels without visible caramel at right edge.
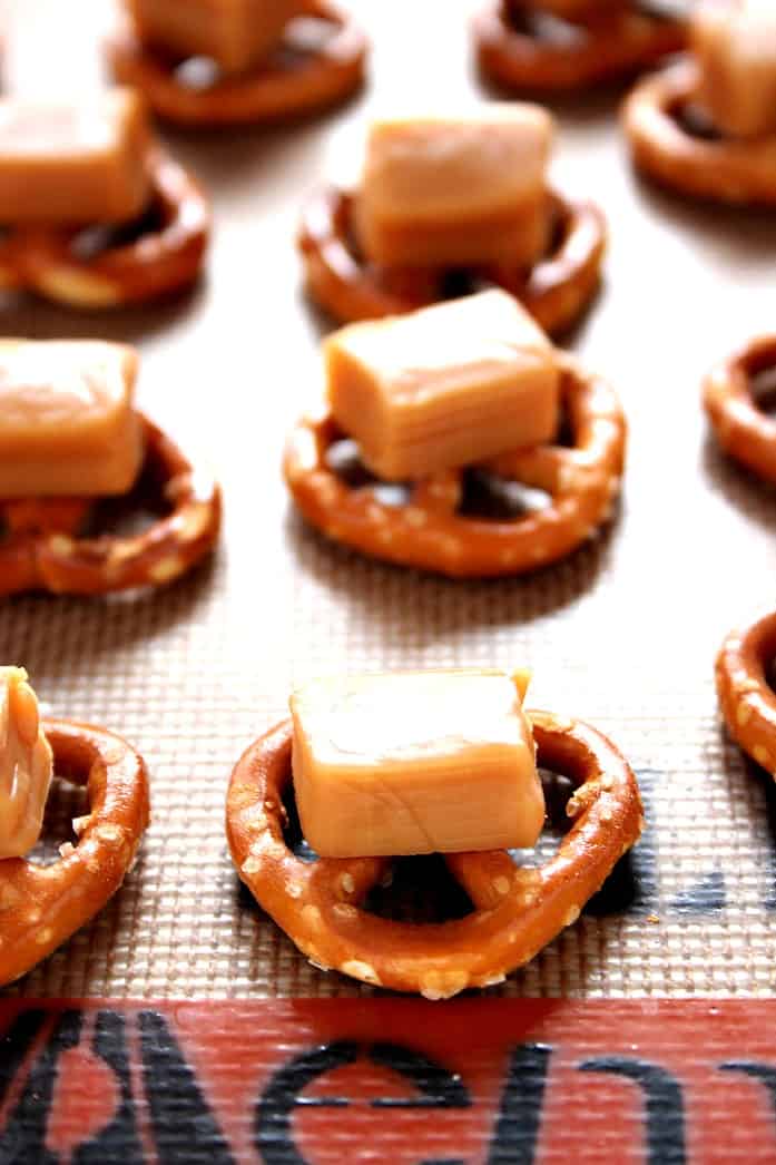
<path id="1" fill-rule="evenodd" d="M 704 381 L 704 407 L 731 457 L 776 482 L 776 421 L 757 408 L 752 380 L 776 368 L 776 336 L 752 340 Z"/>

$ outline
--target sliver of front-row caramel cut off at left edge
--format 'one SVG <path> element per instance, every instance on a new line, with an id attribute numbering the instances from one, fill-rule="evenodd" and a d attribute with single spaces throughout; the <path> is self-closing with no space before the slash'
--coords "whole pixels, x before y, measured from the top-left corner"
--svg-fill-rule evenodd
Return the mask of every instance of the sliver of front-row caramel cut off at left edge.
<path id="1" fill-rule="evenodd" d="M 43 827 L 54 758 L 22 668 L 0 668 L 0 859 L 22 857 Z"/>

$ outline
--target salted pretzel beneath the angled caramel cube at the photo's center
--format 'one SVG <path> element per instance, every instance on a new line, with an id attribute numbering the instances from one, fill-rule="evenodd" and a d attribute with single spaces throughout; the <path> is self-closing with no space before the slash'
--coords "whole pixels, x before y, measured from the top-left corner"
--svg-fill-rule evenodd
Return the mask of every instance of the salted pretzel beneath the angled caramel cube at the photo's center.
<path id="1" fill-rule="evenodd" d="M 452 578 L 536 570 L 593 536 L 611 514 L 623 468 L 626 422 L 613 389 L 566 358 L 562 397 L 572 449 L 541 445 L 482 464 L 496 475 L 551 494 L 545 509 L 517 521 L 457 513 L 459 469 L 417 482 L 404 506 L 385 506 L 372 489 L 350 488 L 326 461 L 329 447 L 344 436 L 327 411 L 298 423 L 285 451 L 285 480 L 309 522 L 375 558 Z"/>

